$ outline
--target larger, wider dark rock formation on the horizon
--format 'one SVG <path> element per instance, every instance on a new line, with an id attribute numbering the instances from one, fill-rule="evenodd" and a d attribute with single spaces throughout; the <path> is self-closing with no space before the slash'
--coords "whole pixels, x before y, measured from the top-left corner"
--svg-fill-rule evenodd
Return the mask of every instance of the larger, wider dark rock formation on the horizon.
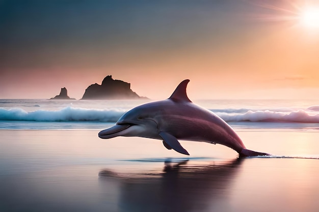
<path id="1" fill-rule="evenodd" d="M 122 80 L 112 79 L 112 75 L 105 77 L 102 84 L 91 84 L 82 97 L 82 100 L 92 99 L 140 99 L 135 92 L 130 89 L 130 83 Z"/>

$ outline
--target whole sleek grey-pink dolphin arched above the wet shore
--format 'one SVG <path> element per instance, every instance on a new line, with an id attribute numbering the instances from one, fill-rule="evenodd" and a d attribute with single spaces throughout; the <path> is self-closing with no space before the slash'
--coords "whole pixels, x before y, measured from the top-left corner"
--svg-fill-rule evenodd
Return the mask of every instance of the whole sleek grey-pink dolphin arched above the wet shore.
<path id="1" fill-rule="evenodd" d="M 138 136 L 163 140 L 167 149 L 190 155 L 178 140 L 222 144 L 239 157 L 268 156 L 245 147 L 235 131 L 215 113 L 194 104 L 187 96 L 189 79 L 183 80 L 170 98 L 137 106 L 125 112 L 115 126 L 102 130 L 103 139 Z"/>

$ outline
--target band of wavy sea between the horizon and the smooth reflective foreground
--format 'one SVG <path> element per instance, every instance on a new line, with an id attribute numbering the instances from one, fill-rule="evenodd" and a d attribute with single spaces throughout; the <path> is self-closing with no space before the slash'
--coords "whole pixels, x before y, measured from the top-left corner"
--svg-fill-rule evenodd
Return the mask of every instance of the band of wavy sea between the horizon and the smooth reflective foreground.
<path id="1" fill-rule="evenodd" d="M 150 100 L 0 100 L 0 129 L 97 129 Z M 316 100 L 198 100 L 234 129 L 317 131 Z"/>

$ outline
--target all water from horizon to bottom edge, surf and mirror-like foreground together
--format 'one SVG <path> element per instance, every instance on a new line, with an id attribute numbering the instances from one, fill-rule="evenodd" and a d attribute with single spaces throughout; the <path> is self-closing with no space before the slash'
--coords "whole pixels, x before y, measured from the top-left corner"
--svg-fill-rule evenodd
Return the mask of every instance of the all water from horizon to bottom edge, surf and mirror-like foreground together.
<path id="1" fill-rule="evenodd" d="M 98 138 L 146 102 L 0 100 L 0 211 L 318 211 L 319 102 L 194 101 L 270 157 Z"/>

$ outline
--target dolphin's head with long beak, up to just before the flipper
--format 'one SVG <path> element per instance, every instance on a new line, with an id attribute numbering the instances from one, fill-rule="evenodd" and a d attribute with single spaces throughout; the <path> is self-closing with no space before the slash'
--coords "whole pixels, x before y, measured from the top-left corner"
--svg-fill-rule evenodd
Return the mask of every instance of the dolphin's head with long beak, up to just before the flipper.
<path id="1" fill-rule="evenodd" d="M 154 108 L 151 103 L 135 107 L 124 113 L 115 126 L 100 131 L 98 137 L 108 139 L 117 136 L 138 136 L 156 139 L 158 138 L 156 114 L 156 107 Z"/>

